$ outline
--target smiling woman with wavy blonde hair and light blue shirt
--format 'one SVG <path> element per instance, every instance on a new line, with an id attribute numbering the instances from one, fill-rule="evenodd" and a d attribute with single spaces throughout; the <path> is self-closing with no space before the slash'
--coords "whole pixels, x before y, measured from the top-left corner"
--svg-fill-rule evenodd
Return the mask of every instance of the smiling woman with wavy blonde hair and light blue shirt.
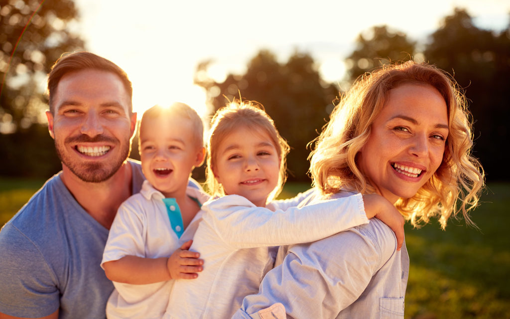
<path id="1" fill-rule="evenodd" d="M 443 71 L 413 61 L 356 82 L 311 154 L 309 203 L 356 192 L 383 195 L 414 226 L 478 204 L 483 170 L 472 148 L 466 100 Z M 460 205 L 456 205 L 460 203 Z M 405 245 L 379 220 L 293 246 L 234 318 L 403 317 Z"/>

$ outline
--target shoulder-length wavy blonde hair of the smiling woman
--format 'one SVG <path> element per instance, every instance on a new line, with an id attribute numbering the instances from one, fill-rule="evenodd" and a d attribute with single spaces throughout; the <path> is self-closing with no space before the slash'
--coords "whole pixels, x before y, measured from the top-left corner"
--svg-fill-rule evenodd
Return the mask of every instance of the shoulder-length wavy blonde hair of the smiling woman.
<path id="1" fill-rule="evenodd" d="M 449 133 L 436 173 L 412 198 L 399 199 L 395 206 L 415 227 L 438 217 L 444 229 L 448 218 L 459 211 L 467 224 L 474 225 L 468 212 L 478 205 L 484 172 L 471 155 L 473 136 L 466 98 L 448 73 L 426 63 L 382 66 L 352 85 L 313 141 L 309 157 L 313 184 L 325 195 L 342 189 L 375 192 L 361 173 L 356 155 L 369 139 L 371 125 L 388 101 L 390 90 L 409 83 L 427 84 L 441 93 L 447 105 Z"/>

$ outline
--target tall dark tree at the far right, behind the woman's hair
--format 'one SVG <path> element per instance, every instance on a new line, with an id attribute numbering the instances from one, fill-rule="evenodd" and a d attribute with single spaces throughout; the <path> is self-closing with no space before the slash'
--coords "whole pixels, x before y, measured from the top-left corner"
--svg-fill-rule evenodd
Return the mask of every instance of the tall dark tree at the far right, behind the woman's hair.
<path id="1" fill-rule="evenodd" d="M 478 29 L 464 9 L 456 8 L 430 36 L 426 60 L 454 75 L 465 91 L 474 119 L 474 154 L 487 178 L 508 180 L 500 159 L 510 156 L 508 87 L 510 87 L 510 24 L 497 34 Z"/>

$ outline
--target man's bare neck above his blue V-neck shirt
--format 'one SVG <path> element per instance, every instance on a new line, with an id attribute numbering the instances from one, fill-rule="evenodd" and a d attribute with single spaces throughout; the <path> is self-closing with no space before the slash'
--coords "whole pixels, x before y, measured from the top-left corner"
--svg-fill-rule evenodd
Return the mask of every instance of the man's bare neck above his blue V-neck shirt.
<path id="1" fill-rule="evenodd" d="M 110 229 L 120 204 L 132 195 L 131 164 L 127 161 L 108 180 L 100 183 L 84 182 L 65 165 L 60 175 L 74 199 L 97 222 Z"/>

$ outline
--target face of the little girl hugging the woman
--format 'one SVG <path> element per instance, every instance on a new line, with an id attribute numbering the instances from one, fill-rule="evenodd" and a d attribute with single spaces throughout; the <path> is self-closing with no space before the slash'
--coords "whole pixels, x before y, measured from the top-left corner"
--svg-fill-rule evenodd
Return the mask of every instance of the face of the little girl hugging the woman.
<path id="1" fill-rule="evenodd" d="M 278 185 L 280 159 L 264 130 L 239 128 L 218 145 L 214 176 L 227 195 L 237 194 L 264 207 Z"/>

